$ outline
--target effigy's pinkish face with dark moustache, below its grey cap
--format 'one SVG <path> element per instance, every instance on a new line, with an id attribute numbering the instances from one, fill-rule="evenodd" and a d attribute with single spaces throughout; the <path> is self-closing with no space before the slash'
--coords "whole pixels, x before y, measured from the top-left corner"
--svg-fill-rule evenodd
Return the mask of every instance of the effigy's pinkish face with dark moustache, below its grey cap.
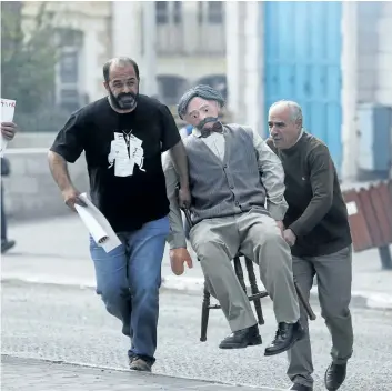
<path id="1" fill-rule="evenodd" d="M 219 111 L 217 101 L 195 97 L 188 104 L 184 120 L 199 130 L 211 129 L 219 121 Z"/>

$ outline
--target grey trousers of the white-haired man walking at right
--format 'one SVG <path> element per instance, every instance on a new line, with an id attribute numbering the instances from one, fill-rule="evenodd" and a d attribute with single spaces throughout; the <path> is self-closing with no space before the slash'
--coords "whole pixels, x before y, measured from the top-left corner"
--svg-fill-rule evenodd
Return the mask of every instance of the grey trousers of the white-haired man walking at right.
<path id="1" fill-rule="evenodd" d="M 331 355 L 334 363 L 345 363 L 352 355 L 353 329 L 350 314 L 352 249 L 348 247 L 330 255 L 293 257 L 296 282 L 306 298 L 316 275 L 321 315 L 332 337 Z M 309 339 L 308 317 L 301 307 L 301 324 L 306 335 L 288 352 L 288 375 L 294 383 L 312 385 L 312 352 Z"/>

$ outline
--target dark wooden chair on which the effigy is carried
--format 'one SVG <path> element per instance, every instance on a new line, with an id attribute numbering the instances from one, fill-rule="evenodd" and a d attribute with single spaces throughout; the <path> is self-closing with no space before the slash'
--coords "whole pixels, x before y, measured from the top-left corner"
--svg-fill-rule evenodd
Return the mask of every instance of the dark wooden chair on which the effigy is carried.
<path id="1" fill-rule="evenodd" d="M 183 212 L 185 214 L 189 227 L 192 227 L 193 224 L 192 224 L 191 214 L 190 214 L 189 210 L 184 209 Z M 237 278 L 239 279 L 243 291 L 248 295 L 240 257 L 243 257 L 243 255 L 241 253 L 238 253 L 235 255 L 235 258 L 233 259 L 234 271 L 235 271 Z M 258 283 L 257 283 L 257 279 L 255 279 L 255 274 L 254 274 L 254 269 L 253 269 L 253 262 L 245 257 L 244 257 L 244 260 L 245 260 L 245 267 L 247 267 L 247 271 L 248 271 L 249 284 L 250 284 L 250 289 L 251 289 L 251 293 L 252 293 L 251 295 L 248 295 L 248 299 L 249 299 L 249 301 L 253 301 L 257 318 L 258 318 L 258 323 L 261 325 L 261 324 L 264 324 L 263 312 L 261 309 L 261 299 L 267 298 L 269 294 L 267 291 L 260 291 L 258 288 Z M 294 287 L 295 287 L 295 291 L 296 291 L 296 295 L 299 298 L 299 301 L 304 307 L 309 319 L 315 320 L 315 314 L 314 314 L 312 308 L 310 307 L 308 300 L 305 299 L 303 292 L 301 291 L 300 287 L 298 285 L 295 279 L 294 279 Z M 207 283 L 204 281 L 203 303 L 202 303 L 202 310 L 201 310 L 201 332 L 200 332 L 200 341 L 201 342 L 207 341 L 207 329 L 208 329 L 208 323 L 209 323 L 210 310 L 221 309 L 220 304 L 212 305 L 210 302 L 210 298 L 211 298 L 211 293 L 209 292 Z"/>

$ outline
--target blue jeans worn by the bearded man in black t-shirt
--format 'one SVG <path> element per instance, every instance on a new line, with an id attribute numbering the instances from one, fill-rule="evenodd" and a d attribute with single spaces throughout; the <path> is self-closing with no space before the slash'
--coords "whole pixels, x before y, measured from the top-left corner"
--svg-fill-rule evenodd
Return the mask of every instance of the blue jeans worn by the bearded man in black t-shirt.
<path id="1" fill-rule="evenodd" d="M 159 315 L 159 288 L 168 217 L 145 223 L 140 230 L 118 233 L 121 245 L 109 253 L 90 237 L 97 293 L 109 313 L 122 322 L 122 333 L 132 341 L 129 357 L 154 362 Z"/>

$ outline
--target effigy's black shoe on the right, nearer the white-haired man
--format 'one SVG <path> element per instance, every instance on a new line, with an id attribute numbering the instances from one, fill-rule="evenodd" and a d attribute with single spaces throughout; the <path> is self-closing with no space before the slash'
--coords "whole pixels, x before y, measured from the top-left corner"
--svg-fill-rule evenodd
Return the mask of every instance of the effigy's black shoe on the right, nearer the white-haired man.
<path id="1" fill-rule="evenodd" d="M 292 345 L 301 340 L 305 334 L 300 322 L 296 323 L 279 323 L 275 339 L 265 348 L 264 355 L 280 354 L 292 348 Z"/>

